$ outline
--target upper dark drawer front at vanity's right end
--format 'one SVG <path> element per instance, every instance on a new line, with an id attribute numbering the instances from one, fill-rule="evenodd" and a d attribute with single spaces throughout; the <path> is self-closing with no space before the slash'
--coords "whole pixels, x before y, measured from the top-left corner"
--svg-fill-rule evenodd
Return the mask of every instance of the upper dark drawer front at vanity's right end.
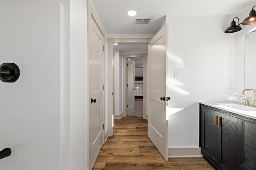
<path id="1" fill-rule="evenodd" d="M 244 144 L 256 150 L 256 124 L 244 121 Z"/>

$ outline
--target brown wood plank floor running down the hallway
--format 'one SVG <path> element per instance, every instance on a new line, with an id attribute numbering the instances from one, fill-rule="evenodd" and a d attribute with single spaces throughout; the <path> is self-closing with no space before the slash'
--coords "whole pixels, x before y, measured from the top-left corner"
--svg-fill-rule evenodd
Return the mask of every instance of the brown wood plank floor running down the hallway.
<path id="1" fill-rule="evenodd" d="M 165 161 L 147 135 L 148 122 L 141 117 L 114 120 L 94 170 L 214 170 L 204 158 L 169 158 Z"/>

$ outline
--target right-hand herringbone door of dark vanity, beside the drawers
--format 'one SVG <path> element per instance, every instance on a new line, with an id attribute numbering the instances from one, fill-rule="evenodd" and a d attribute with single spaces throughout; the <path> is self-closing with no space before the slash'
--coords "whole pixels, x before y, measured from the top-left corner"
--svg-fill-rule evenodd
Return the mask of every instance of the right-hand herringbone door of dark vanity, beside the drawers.
<path id="1" fill-rule="evenodd" d="M 243 164 L 242 120 L 222 113 L 221 128 L 219 127 L 218 131 L 221 151 L 218 156 L 218 166 L 222 169 L 235 170 Z"/>

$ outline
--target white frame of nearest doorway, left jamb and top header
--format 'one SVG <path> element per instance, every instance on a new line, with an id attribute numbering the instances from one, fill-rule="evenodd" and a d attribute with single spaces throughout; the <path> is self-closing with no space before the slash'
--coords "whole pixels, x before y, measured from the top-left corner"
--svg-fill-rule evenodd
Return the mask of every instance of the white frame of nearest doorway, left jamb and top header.
<path id="1" fill-rule="evenodd" d="M 113 127 L 114 127 L 114 95 L 112 95 L 112 92 L 114 92 L 114 44 L 148 44 L 148 41 L 151 38 L 108 38 L 108 78 L 111 77 L 112 80 L 108 79 L 108 93 L 107 98 L 111 99 L 107 101 L 108 105 L 108 115 L 107 115 L 107 121 L 108 121 L 108 136 L 113 136 Z M 111 67 L 111 68 L 110 68 Z M 112 108 L 112 109 L 109 109 Z"/>

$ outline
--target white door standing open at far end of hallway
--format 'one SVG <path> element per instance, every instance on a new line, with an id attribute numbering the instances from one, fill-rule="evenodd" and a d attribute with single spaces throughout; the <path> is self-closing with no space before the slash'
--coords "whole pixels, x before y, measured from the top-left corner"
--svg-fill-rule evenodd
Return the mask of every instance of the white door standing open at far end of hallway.
<path id="1" fill-rule="evenodd" d="M 134 112 L 134 77 L 135 62 L 128 59 L 127 62 L 127 115 Z"/>

